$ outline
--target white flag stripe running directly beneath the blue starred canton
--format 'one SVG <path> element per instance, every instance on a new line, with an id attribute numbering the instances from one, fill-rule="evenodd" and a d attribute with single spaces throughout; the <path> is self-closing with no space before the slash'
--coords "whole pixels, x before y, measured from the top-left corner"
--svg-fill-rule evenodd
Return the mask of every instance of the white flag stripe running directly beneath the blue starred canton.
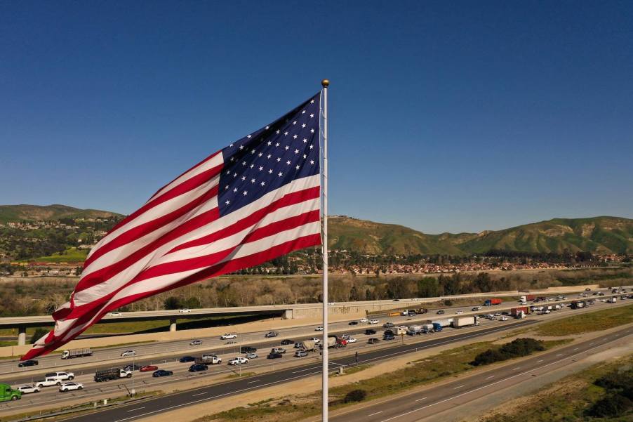
<path id="1" fill-rule="evenodd" d="M 298 180 L 293 180 L 293 182 L 288 183 L 287 185 L 279 187 L 279 189 L 276 189 L 272 192 L 265 194 L 263 197 L 256 200 L 252 204 L 249 204 L 248 206 L 244 206 L 243 208 L 237 211 L 227 214 L 227 216 L 218 218 L 218 220 L 215 220 L 206 226 L 203 226 L 201 228 L 193 230 L 192 232 L 182 235 L 178 239 L 174 239 L 172 242 L 168 242 L 168 244 L 165 244 L 164 246 L 161 246 L 155 249 L 154 251 L 148 253 L 146 256 L 144 256 L 137 262 L 133 263 L 132 265 L 128 266 L 127 268 L 125 268 L 118 274 L 114 275 L 107 281 L 101 282 L 99 284 L 96 284 L 95 286 L 91 286 L 88 289 L 79 291 L 76 294 L 74 294 L 73 299 L 74 299 L 75 305 L 76 306 L 85 305 L 86 303 L 90 303 L 97 298 L 105 296 L 111 291 L 119 289 L 119 287 L 126 284 L 126 282 L 128 282 L 130 279 L 135 277 L 140 271 L 144 270 L 145 268 L 149 268 L 149 266 L 155 265 L 154 263 L 152 263 L 152 261 L 159 260 L 161 256 L 164 256 L 165 253 L 167 253 L 168 251 L 171 251 L 171 249 L 173 249 L 175 246 L 178 246 L 179 244 L 183 244 L 185 242 L 190 242 L 195 239 L 199 239 L 200 237 L 204 237 L 206 235 L 211 235 L 212 233 L 217 232 L 218 230 L 221 230 L 222 228 L 226 228 L 227 226 L 236 223 L 242 218 L 246 218 L 250 216 L 252 213 L 255 213 L 256 211 L 264 208 L 265 206 L 267 206 L 274 200 L 283 197 L 285 194 L 300 191 L 300 190 L 305 190 L 305 189 L 308 189 L 309 187 L 318 186 L 319 181 L 320 181 L 319 175 L 309 176 L 307 178 L 301 178 Z M 217 201 L 217 198 L 215 198 L 214 200 Z M 311 202 L 311 201 L 312 200 L 309 200 L 306 202 Z M 302 204 L 305 204 L 306 202 L 303 202 Z M 284 209 L 288 209 L 288 208 L 290 207 L 284 207 Z M 291 215 L 288 213 L 288 216 L 291 216 Z M 216 241 L 216 242 L 219 242 L 219 241 Z M 225 249 L 228 249 L 231 246 L 233 245 L 229 245 Z M 180 251 L 170 254 L 170 256 L 175 255 L 176 253 L 180 253 Z M 182 256 L 182 254 L 180 254 L 179 256 Z"/>

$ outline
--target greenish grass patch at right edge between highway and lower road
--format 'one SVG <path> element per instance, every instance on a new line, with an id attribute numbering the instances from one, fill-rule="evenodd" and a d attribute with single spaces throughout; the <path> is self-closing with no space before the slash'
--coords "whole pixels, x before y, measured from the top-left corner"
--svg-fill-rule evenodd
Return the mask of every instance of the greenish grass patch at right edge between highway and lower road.
<path id="1" fill-rule="evenodd" d="M 540 324 L 535 332 L 541 336 L 570 336 L 601 331 L 633 322 L 633 304 L 574 315 Z"/>

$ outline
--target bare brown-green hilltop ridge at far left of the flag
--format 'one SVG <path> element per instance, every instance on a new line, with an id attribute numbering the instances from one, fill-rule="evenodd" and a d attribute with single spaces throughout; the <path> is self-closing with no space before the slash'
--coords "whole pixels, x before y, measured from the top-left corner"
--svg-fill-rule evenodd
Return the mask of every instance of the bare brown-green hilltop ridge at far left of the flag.
<path id="1" fill-rule="evenodd" d="M 0 223 L 9 221 L 59 220 L 60 218 L 110 218 L 121 214 L 66 205 L 0 205 Z"/>

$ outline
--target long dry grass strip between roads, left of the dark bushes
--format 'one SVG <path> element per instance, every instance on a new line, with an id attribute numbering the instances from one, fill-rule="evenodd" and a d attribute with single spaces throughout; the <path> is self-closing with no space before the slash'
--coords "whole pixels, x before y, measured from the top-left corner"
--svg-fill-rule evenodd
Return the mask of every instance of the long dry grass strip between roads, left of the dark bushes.
<path id="1" fill-rule="evenodd" d="M 568 343 L 568 340 L 546 341 L 545 347 Z M 432 383 L 448 376 L 456 376 L 474 369 L 470 364 L 474 357 L 489 348 L 500 347 L 490 342 L 479 342 L 454 348 L 421 360 L 409 362 L 405 368 L 382 374 L 356 383 L 349 383 L 330 389 L 330 409 L 338 409 L 349 404 L 343 402 L 347 393 L 362 389 L 367 392 L 366 400 L 374 400 L 387 395 L 401 393 L 418 385 Z M 352 369 L 353 370 L 353 369 Z M 348 374 L 350 370 L 348 370 Z M 265 400 L 248 404 L 218 414 L 203 416 L 195 422 L 244 421 L 278 422 L 300 420 L 319 414 L 321 411 L 321 393 L 295 395 L 281 399 Z"/>

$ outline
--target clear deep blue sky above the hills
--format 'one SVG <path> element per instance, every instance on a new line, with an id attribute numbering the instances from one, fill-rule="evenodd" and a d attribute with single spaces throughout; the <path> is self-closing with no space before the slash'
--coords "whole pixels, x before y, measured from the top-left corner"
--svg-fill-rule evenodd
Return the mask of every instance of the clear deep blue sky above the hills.
<path id="1" fill-rule="evenodd" d="M 633 2 L 0 4 L 0 203 L 130 213 L 331 79 L 331 213 L 633 218 Z"/>

